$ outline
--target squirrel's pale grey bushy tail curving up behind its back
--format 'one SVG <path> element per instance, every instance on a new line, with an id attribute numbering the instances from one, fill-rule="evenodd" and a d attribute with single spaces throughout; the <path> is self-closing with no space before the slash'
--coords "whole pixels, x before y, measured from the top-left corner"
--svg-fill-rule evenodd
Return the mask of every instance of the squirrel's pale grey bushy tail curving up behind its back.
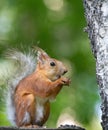
<path id="1" fill-rule="evenodd" d="M 20 80 L 31 74 L 36 68 L 36 58 L 32 52 L 28 54 L 11 49 L 6 53 L 6 57 L 14 62 L 16 68 L 14 74 L 8 79 L 7 91 L 7 116 L 13 125 L 15 124 L 15 108 L 13 103 L 14 91 Z"/>

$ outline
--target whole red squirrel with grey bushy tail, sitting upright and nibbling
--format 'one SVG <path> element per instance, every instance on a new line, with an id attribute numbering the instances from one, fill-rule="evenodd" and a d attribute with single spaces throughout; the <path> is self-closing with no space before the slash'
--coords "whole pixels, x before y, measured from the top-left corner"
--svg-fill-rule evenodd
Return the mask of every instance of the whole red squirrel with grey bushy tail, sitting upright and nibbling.
<path id="1" fill-rule="evenodd" d="M 65 65 L 51 58 L 43 49 L 34 47 L 37 57 L 10 50 L 7 57 L 19 65 L 17 73 L 8 80 L 7 112 L 17 127 L 42 127 L 50 114 L 50 101 L 55 99 L 70 79 Z"/>

